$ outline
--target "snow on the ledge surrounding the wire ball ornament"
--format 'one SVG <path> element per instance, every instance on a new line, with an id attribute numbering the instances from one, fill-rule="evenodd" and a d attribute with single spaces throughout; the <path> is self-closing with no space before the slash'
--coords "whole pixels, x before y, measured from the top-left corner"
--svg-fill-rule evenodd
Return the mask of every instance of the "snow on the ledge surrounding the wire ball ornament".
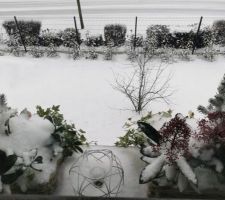
<path id="1" fill-rule="evenodd" d="M 84 150 L 102 150 L 108 149 L 112 151 L 121 162 L 124 169 L 124 185 L 121 187 L 119 197 L 146 198 L 148 185 L 139 184 L 140 170 L 144 167 L 144 163 L 139 159 L 140 153 L 137 148 L 119 148 L 110 146 L 83 146 Z M 77 193 L 73 190 L 69 170 L 79 158 L 79 154 L 74 154 L 72 157 L 65 160 L 60 168 L 58 182 L 60 183 L 54 192 L 54 195 L 73 196 Z M 95 196 L 93 194 L 93 196 Z"/>

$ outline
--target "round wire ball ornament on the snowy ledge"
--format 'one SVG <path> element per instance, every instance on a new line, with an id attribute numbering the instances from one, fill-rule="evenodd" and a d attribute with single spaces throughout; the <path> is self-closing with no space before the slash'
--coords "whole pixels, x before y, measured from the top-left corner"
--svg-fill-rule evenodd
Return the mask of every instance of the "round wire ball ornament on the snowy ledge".
<path id="1" fill-rule="evenodd" d="M 75 194 L 113 197 L 124 185 L 124 170 L 111 150 L 86 150 L 69 170 Z"/>

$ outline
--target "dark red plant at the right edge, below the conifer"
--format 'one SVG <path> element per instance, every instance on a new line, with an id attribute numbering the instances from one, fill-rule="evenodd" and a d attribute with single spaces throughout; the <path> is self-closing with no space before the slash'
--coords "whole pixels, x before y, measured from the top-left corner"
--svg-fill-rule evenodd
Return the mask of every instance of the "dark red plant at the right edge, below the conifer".
<path id="1" fill-rule="evenodd" d="M 225 112 L 209 113 L 198 123 L 196 138 L 206 144 L 225 143 Z"/>

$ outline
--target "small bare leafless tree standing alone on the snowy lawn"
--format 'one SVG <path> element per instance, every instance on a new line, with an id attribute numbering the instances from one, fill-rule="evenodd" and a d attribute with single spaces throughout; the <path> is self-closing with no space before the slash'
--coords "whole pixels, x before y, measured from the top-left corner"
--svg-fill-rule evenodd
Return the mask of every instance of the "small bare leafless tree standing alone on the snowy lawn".
<path id="1" fill-rule="evenodd" d="M 171 75 L 164 78 L 166 66 L 149 65 L 152 57 L 152 54 L 146 52 L 139 53 L 131 76 L 115 78 L 113 88 L 130 100 L 136 112 L 141 112 L 152 101 L 162 100 L 168 104 L 173 94 L 169 85 Z"/>

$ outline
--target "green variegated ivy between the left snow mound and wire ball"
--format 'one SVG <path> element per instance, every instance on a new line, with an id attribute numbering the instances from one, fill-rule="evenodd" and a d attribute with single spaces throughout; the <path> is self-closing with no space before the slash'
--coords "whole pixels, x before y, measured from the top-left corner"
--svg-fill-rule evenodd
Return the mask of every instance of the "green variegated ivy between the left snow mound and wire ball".
<path id="1" fill-rule="evenodd" d="M 73 152 L 83 152 L 80 146 L 86 142 L 85 132 L 82 129 L 77 130 L 74 124 L 69 124 L 59 111 L 59 106 L 47 109 L 37 106 L 37 114 L 49 120 L 54 126 L 47 144 L 52 148 L 53 156 L 57 156 L 60 152 L 63 153 L 63 157 L 71 156 Z"/>

